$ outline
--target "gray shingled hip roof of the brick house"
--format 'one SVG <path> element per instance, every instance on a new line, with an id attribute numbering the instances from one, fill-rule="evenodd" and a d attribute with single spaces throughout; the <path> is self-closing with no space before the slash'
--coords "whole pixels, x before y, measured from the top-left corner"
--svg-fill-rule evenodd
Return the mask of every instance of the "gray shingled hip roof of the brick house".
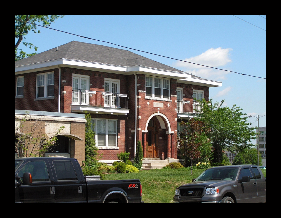
<path id="1" fill-rule="evenodd" d="M 171 70 L 185 73 L 181 70 L 161 64 L 154 60 L 130 52 L 128 50 L 77 41 L 72 41 L 64 45 L 58 46 L 58 50 L 57 48 L 53 48 L 45 52 L 35 54 L 31 57 L 18 60 L 15 62 L 15 67 L 62 58 L 98 62 L 119 66 L 140 65 L 160 70 Z"/>

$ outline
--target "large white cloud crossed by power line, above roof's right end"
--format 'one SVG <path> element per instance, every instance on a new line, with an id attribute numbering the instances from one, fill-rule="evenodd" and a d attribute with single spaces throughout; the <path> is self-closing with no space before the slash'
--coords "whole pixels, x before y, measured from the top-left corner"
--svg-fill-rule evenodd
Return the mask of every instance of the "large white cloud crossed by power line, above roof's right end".
<path id="1" fill-rule="evenodd" d="M 186 58 L 184 61 L 209 67 L 221 68 L 222 66 L 225 66 L 227 63 L 231 62 L 231 59 L 229 57 L 230 51 L 232 51 L 231 48 L 210 48 L 206 52 L 203 52 L 202 54 L 195 57 Z M 177 61 L 175 67 L 181 68 L 183 71 L 192 73 L 193 75 L 210 80 L 225 80 L 225 75 L 229 73 L 223 70 L 203 67 L 201 65 Z"/>

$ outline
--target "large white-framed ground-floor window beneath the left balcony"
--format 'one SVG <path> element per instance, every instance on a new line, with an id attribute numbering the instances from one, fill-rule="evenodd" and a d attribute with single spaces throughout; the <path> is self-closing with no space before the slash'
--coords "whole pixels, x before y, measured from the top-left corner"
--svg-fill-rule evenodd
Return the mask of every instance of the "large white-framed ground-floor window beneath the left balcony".
<path id="1" fill-rule="evenodd" d="M 92 119 L 97 147 L 117 147 L 117 120 Z"/>

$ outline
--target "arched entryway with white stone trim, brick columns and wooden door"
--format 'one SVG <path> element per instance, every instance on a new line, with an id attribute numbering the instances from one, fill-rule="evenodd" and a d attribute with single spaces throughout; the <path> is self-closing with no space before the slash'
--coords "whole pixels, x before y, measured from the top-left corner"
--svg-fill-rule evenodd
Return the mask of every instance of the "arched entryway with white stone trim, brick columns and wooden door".
<path id="1" fill-rule="evenodd" d="M 145 130 L 142 133 L 144 158 L 171 158 L 174 132 L 171 131 L 170 122 L 164 114 L 152 114 L 147 119 Z"/>

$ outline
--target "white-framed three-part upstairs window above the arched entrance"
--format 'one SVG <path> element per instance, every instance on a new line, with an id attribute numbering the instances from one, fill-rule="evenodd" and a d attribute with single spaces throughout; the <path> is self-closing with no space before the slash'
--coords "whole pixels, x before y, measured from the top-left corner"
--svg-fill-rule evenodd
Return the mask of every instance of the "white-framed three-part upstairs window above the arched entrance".
<path id="1" fill-rule="evenodd" d="M 170 99 L 170 80 L 159 77 L 145 77 L 145 96 Z"/>

